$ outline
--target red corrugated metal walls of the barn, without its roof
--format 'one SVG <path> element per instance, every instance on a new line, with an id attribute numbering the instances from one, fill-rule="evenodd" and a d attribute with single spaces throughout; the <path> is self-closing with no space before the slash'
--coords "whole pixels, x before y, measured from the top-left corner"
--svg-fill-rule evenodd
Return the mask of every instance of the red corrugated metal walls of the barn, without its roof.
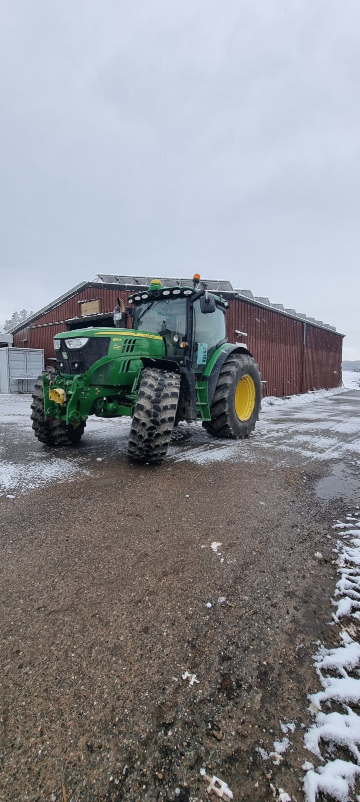
<path id="1" fill-rule="evenodd" d="M 112 312 L 117 297 L 120 296 L 126 303 L 131 290 L 98 284 L 79 290 L 72 298 L 59 303 L 14 334 L 14 346 L 43 348 L 45 359 L 54 357 L 54 334 L 66 331 L 66 320 L 78 318 L 78 301 L 99 300 L 101 313 Z M 290 318 L 242 298 L 229 300 L 230 309 L 226 314 L 229 340 L 244 342 L 254 354 L 262 379 L 267 382 L 269 395 L 291 395 L 322 387 L 338 387 L 341 382 L 341 335 L 311 326 L 309 322 L 304 324 L 300 319 Z M 79 326 L 82 325 L 79 320 Z M 238 337 L 235 330 L 246 332 L 247 338 Z"/>

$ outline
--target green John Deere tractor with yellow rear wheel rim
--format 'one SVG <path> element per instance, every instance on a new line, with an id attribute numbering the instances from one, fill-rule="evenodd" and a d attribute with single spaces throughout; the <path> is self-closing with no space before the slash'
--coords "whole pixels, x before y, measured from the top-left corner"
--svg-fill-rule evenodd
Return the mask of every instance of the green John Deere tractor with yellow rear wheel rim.
<path id="1" fill-rule="evenodd" d="M 200 420 L 218 437 L 250 435 L 261 376 L 250 351 L 227 341 L 229 303 L 199 282 L 198 274 L 193 286 L 154 280 L 127 310 L 118 298 L 114 328 L 56 334 L 56 369 L 38 379 L 31 404 L 38 440 L 75 445 L 88 415 L 130 415 L 130 459 L 161 463 L 182 420 Z"/>

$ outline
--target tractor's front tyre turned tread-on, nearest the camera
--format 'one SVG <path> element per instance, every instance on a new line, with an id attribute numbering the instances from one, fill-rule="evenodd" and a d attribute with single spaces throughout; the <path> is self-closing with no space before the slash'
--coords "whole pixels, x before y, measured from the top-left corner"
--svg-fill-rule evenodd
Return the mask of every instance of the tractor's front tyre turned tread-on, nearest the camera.
<path id="1" fill-rule="evenodd" d="M 131 424 L 128 456 L 138 462 L 165 460 L 180 392 L 178 373 L 146 368 Z"/>

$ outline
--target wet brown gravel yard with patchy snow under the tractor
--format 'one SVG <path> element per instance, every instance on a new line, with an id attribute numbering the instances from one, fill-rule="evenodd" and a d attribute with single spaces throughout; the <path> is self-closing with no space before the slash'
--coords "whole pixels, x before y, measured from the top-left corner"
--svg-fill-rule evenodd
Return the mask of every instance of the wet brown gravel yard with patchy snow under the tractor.
<path id="1" fill-rule="evenodd" d="M 0 403 L 0 798 L 205 802 L 204 767 L 234 800 L 303 800 L 360 392 L 265 407 L 246 442 L 179 427 L 156 468 L 123 421 L 54 455 L 26 403 Z"/>

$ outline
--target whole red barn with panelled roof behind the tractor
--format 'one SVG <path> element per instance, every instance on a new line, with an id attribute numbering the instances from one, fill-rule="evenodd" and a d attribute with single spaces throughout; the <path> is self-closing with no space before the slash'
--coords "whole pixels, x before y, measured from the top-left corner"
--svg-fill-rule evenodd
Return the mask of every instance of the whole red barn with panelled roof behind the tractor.
<path id="1" fill-rule="evenodd" d="M 43 348 L 45 363 L 54 359 L 54 334 L 84 326 L 113 325 L 118 296 L 146 289 L 152 277 L 98 275 L 81 282 L 60 298 L 31 315 L 11 331 L 14 347 Z M 164 278 L 166 286 L 189 284 L 192 279 Z M 254 298 L 250 290 L 234 290 L 230 282 L 202 281 L 208 290 L 230 302 L 226 314 L 230 342 L 245 342 L 258 363 L 269 395 L 338 387 L 341 383 L 342 338 L 334 326 L 306 318 L 268 298 Z"/>

